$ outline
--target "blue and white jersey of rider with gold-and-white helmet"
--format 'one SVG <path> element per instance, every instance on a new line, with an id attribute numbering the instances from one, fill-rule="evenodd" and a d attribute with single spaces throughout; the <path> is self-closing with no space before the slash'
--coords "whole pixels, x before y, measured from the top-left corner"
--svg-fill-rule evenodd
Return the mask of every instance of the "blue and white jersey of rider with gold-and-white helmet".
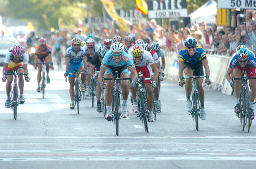
<path id="1" fill-rule="evenodd" d="M 80 47 L 77 55 L 74 53 L 74 50 L 73 50 L 72 46 L 70 46 L 67 49 L 66 57 L 70 58 L 70 64 L 71 65 L 78 65 L 78 64 L 82 63 L 84 56 L 86 56 L 85 55 L 85 50 L 82 47 Z"/>

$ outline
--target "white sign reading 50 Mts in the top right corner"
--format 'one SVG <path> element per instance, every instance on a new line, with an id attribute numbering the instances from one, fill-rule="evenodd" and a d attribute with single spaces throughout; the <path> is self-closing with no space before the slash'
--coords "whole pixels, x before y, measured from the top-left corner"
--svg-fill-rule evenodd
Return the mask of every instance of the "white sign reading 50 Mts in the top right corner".
<path id="1" fill-rule="evenodd" d="M 255 0 L 218 0 L 218 9 L 256 9 Z"/>

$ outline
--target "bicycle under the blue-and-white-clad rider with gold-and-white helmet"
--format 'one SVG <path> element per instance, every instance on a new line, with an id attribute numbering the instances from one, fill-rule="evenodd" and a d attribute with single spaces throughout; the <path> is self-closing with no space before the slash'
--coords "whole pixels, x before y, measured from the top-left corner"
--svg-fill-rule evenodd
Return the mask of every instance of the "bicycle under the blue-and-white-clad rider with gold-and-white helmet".
<path id="1" fill-rule="evenodd" d="M 73 73 L 69 73 L 69 75 L 75 75 L 75 90 L 74 90 L 74 109 L 77 108 L 77 114 L 79 114 L 79 102 L 82 98 L 81 88 L 80 88 L 80 74 L 83 74 L 84 72 L 78 72 L 77 69 Z M 65 76 L 66 82 L 67 82 L 67 76 Z"/>

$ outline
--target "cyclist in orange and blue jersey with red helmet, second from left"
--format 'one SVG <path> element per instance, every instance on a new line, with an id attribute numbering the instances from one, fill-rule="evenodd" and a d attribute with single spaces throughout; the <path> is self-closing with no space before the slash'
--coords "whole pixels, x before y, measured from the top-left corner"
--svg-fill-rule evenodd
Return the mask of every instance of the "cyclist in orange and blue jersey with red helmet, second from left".
<path id="1" fill-rule="evenodd" d="M 40 38 L 37 41 L 38 45 L 35 46 L 35 63 L 42 63 L 43 60 L 46 61 L 46 82 L 50 83 L 49 78 L 49 68 L 54 69 L 52 66 L 52 51 L 48 44 L 46 44 L 45 38 Z M 50 66 L 48 65 L 50 64 Z M 40 92 L 40 81 L 41 81 L 41 72 L 42 72 L 42 64 L 37 64 L 38 73 L 37 73 L 37 92 Z"/>

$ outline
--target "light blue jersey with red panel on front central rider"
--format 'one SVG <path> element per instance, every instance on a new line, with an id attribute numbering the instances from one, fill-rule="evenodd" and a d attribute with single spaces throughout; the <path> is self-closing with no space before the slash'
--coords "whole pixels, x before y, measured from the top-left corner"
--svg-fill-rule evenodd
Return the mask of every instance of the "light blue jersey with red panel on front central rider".
<path id="1" fill-rule="evenodd" d="M 104 68 L 107 68 L 108 65 L 111 65 L 113 67 L 120 67 L 122 65 L 127 65 L 128 69 L 131 69 L 134 67 L 134 62 L 132 62 L 130 56 L 125 52 L 123 51 L 122 52 L 122 59 L 120 60 L 120 62 L 116 63 L 114 60 L 113 60 L 113 57 L 112 57 L 112 51 L 109 50 L 103 60 L 102 60 L 102 63 L 101 63 L 101 66 L 104 67 Z"/>

